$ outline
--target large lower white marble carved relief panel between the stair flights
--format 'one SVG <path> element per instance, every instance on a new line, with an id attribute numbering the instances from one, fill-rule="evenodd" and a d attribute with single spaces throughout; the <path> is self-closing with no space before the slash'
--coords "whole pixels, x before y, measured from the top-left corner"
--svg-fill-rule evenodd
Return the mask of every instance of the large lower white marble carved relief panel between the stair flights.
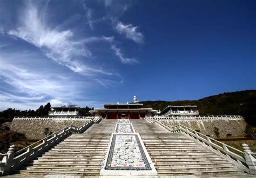
<path id="1" fill-rule="evenodd" d="M 135 135 L 117 135 L 111 167 L 145 168 Z"/>

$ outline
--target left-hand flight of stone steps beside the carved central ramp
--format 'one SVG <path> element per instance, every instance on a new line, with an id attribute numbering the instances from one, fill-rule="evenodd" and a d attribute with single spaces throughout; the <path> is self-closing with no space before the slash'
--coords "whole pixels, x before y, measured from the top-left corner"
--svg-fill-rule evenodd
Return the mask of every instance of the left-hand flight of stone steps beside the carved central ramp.
<path id="1" fill-rule="evenodd" d="M 21 175 L 99 175 L 117 120 L 102 120 L 82 134 L 72 134 L 37 160 L 22 167 Z"/>

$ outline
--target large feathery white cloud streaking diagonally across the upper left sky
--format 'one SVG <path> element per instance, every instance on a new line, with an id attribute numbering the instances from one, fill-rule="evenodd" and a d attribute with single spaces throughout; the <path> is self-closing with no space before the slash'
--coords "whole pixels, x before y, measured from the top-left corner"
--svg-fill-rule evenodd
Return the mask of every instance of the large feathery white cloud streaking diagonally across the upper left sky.
<path id="1" fill-rule="evenodd" d="M 8 31 L 8 34 L 21 38 L 41 49 L 45 56 L 56 63 L 68 67 L 74 72 L 85 75 L 109 74 L 83 64 L 79 58 L 91 58 L 92 54 L 86 46 L 73 40 L 72 30 L 60 31 L 46 24 L 45 11 L 39 11 L 31 2 L 26 4 L 24 14 L 20 18 L 19 28 Z M 40 14 L 40 15 L 39 15 Z"/>

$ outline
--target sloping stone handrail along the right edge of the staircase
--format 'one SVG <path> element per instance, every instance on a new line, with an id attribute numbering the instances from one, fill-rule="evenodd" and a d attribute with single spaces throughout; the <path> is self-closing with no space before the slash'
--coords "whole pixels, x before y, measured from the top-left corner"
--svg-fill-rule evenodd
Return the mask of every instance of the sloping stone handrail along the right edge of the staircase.
<path id="1" fill-rule="evenodd" d="M 211 149 L 213 152 L 219 154 L 220 156 L 223 156 L 225 159 L 231 161 L 241 169 L 245 170 L 245 172 L 250 173 L 251 169 L 250 166 L 248 166 L 246 158 L 234 153 L 237 152 L 241 155 L 244 155 L 245 152 L 242 152 L 241 150 L 233 148 L 229 145 L 226 145 L 225 143 L 210 138 L 209 136 L 194 131 L 193 129 L 188 128 L 186 126 L 180 124 L 177 126 L 170 126 L 158 119 L 152 119 L 149 117 L 146 117 L 146 119 L 151 123 L 157 122 L 157 124 L 159 124 L 160 126 L 164 127 L 165 129 L 172 133 L 181 132 L 183 134 L 186 134 L 190 138 L 199 142 L 201 145 L 207 147 L 208 149 Z M 219 145 L 217 145 L 217 143 Z"/>

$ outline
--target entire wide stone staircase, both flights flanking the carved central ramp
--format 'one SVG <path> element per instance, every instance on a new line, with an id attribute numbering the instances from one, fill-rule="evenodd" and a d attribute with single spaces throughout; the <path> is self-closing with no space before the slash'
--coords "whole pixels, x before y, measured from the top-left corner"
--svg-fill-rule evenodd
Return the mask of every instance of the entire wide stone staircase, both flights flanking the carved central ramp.
<path id="1" fill-rule="evenodd" d="M 143 139 L 161 176 L 248 176 L 243 170 L 181 133 L 170 133 L 146 120 L 130 120 Z M 117 120 L 102 120 L 82 134 L 72 134 L 48 152 L 28 163 L 15 176 L 99 176 L 111 133 Z M 12 176 L 12 175 L 10 175 Z"/>

